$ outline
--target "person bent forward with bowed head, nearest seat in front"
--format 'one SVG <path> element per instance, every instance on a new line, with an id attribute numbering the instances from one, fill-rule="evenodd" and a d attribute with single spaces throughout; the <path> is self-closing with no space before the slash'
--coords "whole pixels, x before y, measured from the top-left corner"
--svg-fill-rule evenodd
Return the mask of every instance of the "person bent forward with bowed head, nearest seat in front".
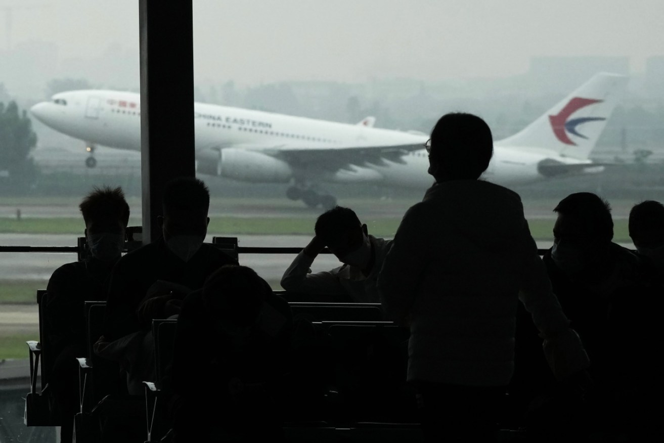
<path id="1" fill-rule="evenodd" d="M 288 303 L 245 266 L 223 266 L 185 298 L 166 389 L 177 442 L 208 441 L 215 430 L 248 441 L 283 437 L 276 402 L 285 397 L 277 391 L 292 321 Z"/>

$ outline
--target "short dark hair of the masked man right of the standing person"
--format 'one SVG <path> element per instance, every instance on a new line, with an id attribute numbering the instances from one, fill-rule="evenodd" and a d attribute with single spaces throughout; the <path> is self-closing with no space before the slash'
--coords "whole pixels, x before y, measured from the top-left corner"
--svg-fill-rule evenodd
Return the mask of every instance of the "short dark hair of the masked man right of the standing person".
<path id="1" fill-rule="evenodd" d="M 581 230 L 589 239 L 610 242 L 614 238 L 614 221 L 609 202 L 596 194 L 582 192 L 570 194 L 553 210 L 558 214 L 572 215 L 582 223 Z"/>

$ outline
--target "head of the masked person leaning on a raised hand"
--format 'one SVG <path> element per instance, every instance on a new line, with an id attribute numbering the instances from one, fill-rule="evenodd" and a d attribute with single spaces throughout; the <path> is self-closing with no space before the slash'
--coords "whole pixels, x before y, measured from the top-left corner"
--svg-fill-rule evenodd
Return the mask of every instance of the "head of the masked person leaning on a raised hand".
<path id="1" fill-rule="evenodd" d="M 337 206 L 323 213 L 316 220 L 314 231 L 339 261 L 359 268 L 369 263 L 371 242 L 367 225 L 352 209 Z"/>

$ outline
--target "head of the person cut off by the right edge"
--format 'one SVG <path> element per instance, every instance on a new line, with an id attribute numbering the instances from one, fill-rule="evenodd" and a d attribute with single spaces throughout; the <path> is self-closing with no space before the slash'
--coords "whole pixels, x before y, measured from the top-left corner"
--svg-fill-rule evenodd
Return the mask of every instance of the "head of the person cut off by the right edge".
<path id="1" fill-rule="evenodd" d="M 637 250 L 664 246 L 664 205 L 647 200 L 629 211 L 629 236 Z"/>

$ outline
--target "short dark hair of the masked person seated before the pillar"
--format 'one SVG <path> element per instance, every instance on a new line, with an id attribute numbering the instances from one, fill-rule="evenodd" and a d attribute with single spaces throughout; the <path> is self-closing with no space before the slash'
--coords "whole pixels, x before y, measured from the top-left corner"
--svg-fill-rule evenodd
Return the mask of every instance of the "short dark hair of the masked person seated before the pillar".
<path id="1" fill-rule="evenodd" d="M 162 207 L 164 214 L 176 212 L 208 213 L 210 190 L 195 177 L 178 177 L 166 183 Z"/>

